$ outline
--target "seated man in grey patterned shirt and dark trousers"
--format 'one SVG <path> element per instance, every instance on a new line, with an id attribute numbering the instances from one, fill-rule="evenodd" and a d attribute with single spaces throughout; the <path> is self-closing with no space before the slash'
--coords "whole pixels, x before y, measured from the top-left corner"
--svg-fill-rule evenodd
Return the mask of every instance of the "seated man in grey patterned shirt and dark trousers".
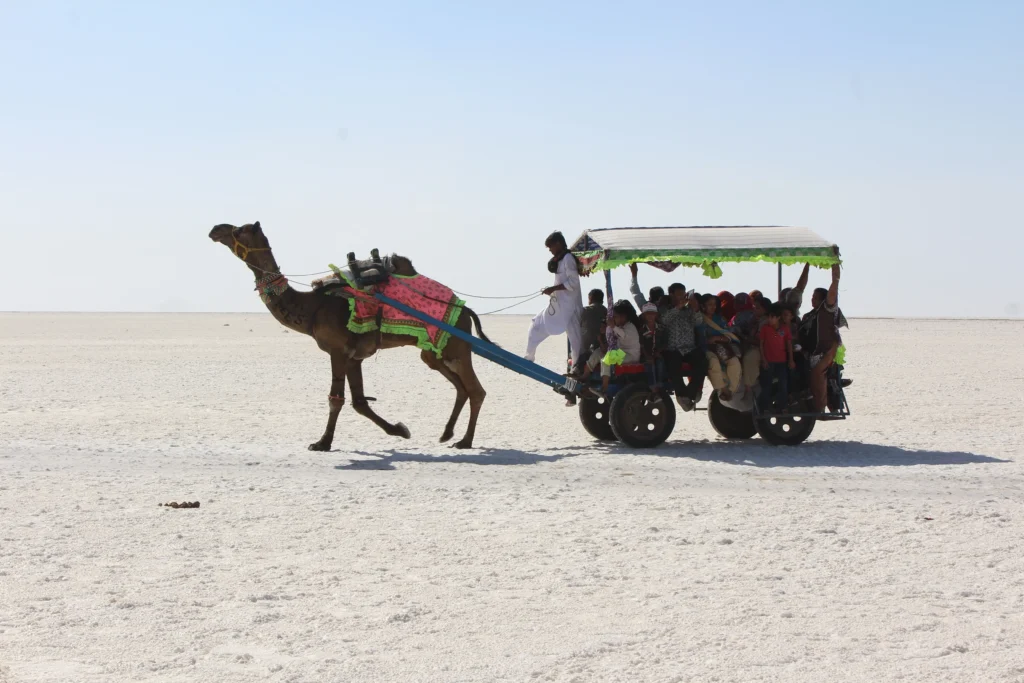
<path id="1" fill-rule="evenodd" d="M 662 357 L 676 391 L 676 401 L 684 411 L 692 411 L 700 401 L 708 358 L 697 346 L 697 329 L 703 323 L 699 302 L 694 295 L 687 297 L 686 288 L 676 283 L 669 287 L 673 306 L 662 315 L 666 342 Z M 690 366 L 690 383 L 683 381 L 683 364 Z"/>

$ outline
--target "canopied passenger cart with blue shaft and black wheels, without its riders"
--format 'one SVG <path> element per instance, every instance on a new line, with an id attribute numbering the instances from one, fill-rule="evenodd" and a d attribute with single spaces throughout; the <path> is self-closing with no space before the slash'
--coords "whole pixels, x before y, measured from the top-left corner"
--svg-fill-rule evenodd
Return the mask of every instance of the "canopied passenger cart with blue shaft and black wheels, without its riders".
<path id="1" fill-rule="evenodd" d="M 604 272 L 609 303 L 614 301 L 611 270 L 631 263 L 650 263 L 664 270 L 679 266 L 699 267 L 717 276 L 719 264 L 765 262 L 778 265 L 778 289 L 782 289 L 782 265 L 810 263 L 821 268 L 840 262 L 839 248 L 803 227 L 617 227 L 588 230 L 569 250 L 580 261 L 582 273 Z M 497 344 L 459 330 L 379 292 L 373 295 L 428 325 L 462 339 L 474 353 L 535 381 L 559 394 L 575 396 L 584 429 L 601 440 L 618 440 L 634 447 L 653 447 L 671 436 L 676 426 L 675 390 L 668 377 L 647 365 L 620 366 L 604 395 L 594 391 L 600 379 L 577 379 L 559 375 L 511 353 Z M 683 368 L 684 374 L 687 368 Z M 712 392 L 707 412 L 712 427 L 728 439 L 749 439 L 759 434 L 776 445 L 795 445 L 810 436 L 817 422 L 845 420 L 850 408 L 844 392 L 842 368 L 828 376 L 828 411 L 813 410 L 807 396 L 797 394 L 784 414 L 760 413 L 751 396 L 725 401 Z"/>

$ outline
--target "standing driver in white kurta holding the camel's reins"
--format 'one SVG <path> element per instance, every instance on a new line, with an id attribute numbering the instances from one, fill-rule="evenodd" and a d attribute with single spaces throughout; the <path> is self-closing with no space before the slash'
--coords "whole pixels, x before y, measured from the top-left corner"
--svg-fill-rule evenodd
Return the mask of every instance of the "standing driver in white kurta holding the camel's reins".
<path id="1" fill-rule="evenodd" d="M 526 341 L 526 359 L 534 360 L 537 347 L 548 337 L 565 333 L 569 339 L 572 362 L 580 362 L 584 351 L 581 348 L 581 315 L 583 314 L 583 294 L 580 290 L 580 271 L 575 258 L 568 252 L 560 232 L 548 238 L 546 243 L 552 255 L 558 260 L 555 284 L 544 290 L 551 297 L 548 307 L 534 318 Z"/>

